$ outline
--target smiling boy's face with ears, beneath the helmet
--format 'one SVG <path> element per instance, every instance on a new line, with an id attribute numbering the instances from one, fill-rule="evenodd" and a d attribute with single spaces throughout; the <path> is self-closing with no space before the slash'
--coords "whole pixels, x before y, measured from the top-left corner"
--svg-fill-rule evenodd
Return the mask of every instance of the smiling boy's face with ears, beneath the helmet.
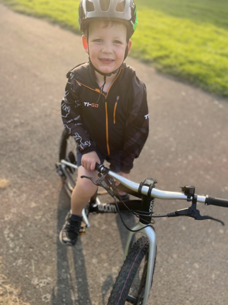
<path id="1" fill-rule="evenodd" d="M 102 21 L 89 24 L 89 41 L 82 36 L 85 51 L 89 53 L 92 64 L 103 73 L 118 69 L 124 61 L 127 29 L 122 23 L 105 26 Z M 88 48 L 89 44 L 89 48 Z M 131 41 L 128 44 L 130 50 Z"/>

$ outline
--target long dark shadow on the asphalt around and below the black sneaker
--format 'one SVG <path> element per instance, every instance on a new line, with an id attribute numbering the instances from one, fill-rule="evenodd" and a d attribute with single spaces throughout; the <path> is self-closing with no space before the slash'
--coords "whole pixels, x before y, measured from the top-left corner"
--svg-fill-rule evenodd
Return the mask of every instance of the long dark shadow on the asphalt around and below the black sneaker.
<path id="1" fill-rule="evenodd" d="M 57 284 L 52 293 L 52 305 L 91 305 L 85 261 L 80 238 L 77 246 L 64 246 L 59 232 L 70 209 L 70 199 L 62 188 L 57 217 Z"/>

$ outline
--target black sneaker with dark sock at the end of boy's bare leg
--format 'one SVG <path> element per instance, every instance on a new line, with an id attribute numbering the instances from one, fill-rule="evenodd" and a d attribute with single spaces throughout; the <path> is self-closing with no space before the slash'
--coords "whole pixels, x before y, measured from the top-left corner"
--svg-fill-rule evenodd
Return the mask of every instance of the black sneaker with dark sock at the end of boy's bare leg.
<path id="1" fill-rule="evenodd" d="M 74 246 L 77 242 L 78 234 L 81 229 L 82 218 L 76 215 L 72 215 L 69 211 L 65 218 L 65 223 L 60 231 L 60 242 L 64 245 Z"/>

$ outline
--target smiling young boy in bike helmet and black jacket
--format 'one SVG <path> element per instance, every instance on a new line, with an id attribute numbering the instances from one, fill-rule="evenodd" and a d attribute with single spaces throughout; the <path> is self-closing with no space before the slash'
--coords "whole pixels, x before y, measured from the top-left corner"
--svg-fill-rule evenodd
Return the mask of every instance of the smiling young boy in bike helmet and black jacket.
<path id="1" fill-rule="evenodd" d="M 149 131 L 146 87 L 124 62 L 137 25 L 132 0 L 81 0 L 79 23 L 89 62 L 68 74 L 62 101 L 63 124 L 77 142 L 78 180 L 71 211 L 60 231 L 60 241 L 73 246 L 81 214 L 96 185 L 96 162 L 129 178 Z"/>

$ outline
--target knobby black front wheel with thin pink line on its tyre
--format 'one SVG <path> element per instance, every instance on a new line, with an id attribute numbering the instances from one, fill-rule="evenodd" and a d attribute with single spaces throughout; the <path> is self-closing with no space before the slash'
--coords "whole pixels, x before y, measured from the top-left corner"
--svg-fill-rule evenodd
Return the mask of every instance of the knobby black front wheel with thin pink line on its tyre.
<path id="1" fill-rule="evenodd" d="M 107 305 L 143 304 L 148 255 L 149 240 L 147 237 L 142 236 L 128 253 Z"/>

